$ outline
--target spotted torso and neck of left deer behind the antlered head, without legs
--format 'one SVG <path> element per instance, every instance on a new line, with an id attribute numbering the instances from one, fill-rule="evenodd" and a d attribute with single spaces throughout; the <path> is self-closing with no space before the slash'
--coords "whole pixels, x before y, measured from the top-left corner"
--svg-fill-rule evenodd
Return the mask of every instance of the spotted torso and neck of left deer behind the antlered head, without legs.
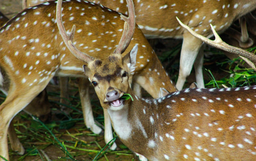
<path id="1" fill-rule="evenodd" d="M 70 54 L 59 35 L 55 7 L 54 1 L 30 7 L 0 29 L 1 66 L 10 79 L 19 85 L 32 86 L 55 74 L 84 77 L 84 63 Z M 62 18 L 67 31 L 74 24 L 77 27 L 74 36 L 77 48 L 92 57 L 105 60 L 115 50 L 123 32 L 120 14 L 88 1 L 64 1 L 63 8 Z M 158 86 L 148 91 L 154 97 L 159 97 L 155 92 L 159 86 L 174 91 L 174 85 L 168 80 L 156 54 L 138 27 L 126 51 L 135 44 L 138 45 L 139 54 L 134 76 L 142 76 L 144 82 L 145 77 L 152 78 L 147 86 Z M 145 84 L 144 88 L 147 89 Z"/>

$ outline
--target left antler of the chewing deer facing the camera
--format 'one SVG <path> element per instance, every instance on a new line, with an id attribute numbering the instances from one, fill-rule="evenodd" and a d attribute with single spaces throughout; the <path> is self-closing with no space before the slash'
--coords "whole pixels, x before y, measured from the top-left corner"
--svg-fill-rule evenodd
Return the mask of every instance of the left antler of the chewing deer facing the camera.
<path id="1" fill-rule="evenodd" d="M 61 34 L 62 39 L 64 40 L 67 48 L 69 49 L 70 52 L 72 52 L 72 54 L 77 57 L 79 60 L 85 62 L 85 63 L 89 63 L 90 61 L 94 60 L 93 57 L 91 57 L 90 55 L 79 51 L 73 44 L 73 37 L 74 37 L 74 32 L 75 32 L 75 25 L 73 25 L 71 33 L 67 34 L 63 22 L 62 22 L 62 18 L 61 18 L 61 4 L 62 4 L 62 0 L 58 0 L 57 5 L 56 5 L 56 21 L 57 21 L 57 26 L 59 28 L 59 32 Z"/>

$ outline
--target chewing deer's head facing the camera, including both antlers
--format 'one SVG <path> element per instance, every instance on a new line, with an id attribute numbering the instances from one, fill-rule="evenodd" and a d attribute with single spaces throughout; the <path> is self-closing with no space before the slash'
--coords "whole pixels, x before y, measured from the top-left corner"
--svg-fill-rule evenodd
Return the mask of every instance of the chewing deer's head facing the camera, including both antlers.
<path id="1" fill-rule="evenodd" d="M 77 50 L 72 42 L 75 26 L 73 25 L 71 34 L 67 34 L 61 20 L 61 3 L 62 0 L 57 3 L 56 20 L 65 44 L 75 57 L 85 63 L 83 66 L 84 74 L 95 87 L 95 92 L 100 99 L 102 107 L 105 109 L 113 108 L 114 110 L 122 109 L 129 102 L 129 100 L 124 102 L 121 97 L 130 90 L 129 74 L 135 69 L 136 54 L 138 52 L 138 47 L 135 45 L 128 54 L 123 57 L 121 55 L 131 42 L 135 30 L 135 13 L 132 0 L 127 0 L 129 17 L 121 15 L 125 23 L 118 47 L 105 61 L 95 59 Z"/>

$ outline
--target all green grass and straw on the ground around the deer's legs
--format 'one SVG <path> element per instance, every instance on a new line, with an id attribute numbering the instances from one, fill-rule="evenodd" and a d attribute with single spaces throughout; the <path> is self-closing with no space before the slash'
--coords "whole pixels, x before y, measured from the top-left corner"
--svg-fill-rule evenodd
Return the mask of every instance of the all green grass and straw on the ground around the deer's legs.
<path id="1" fill-rule="evenodd" d="M 181 45 L 174 47 L 172 50 L 159 54 L 159 59 L 164 64 L 166 71 L 177 81 L 179 69 L 179 52 Z M 256 52 L 256 47 L 249 51 Z M 221 51 L 210 48 L 212 55 L 205 57 L 204 78 L 205 87 L 222 88 L 222 84 L 227 87 L 241 87 L 256 84 L 256 72 L 250 68 L 244 68 L 237 62 L 243 63 L 241 59 L 230 60 Z M 193 73 L 193 71 L 192 71 Z M 75 82 L 75 80 L 72 80 Z M 185 87 L 191 82 L 187 81 Z M 92 93 L 93 89 L 92 89 Z M 134 155 L 129 149 L 118 141 L 115 136 L 113 141 L 118 142 L 118 150 L 110 151 L 109 144 L 105 144 L 103 135 L 93 134 L 90 129 L 84 125 L 81 103 L 78 89 L 74 83 L 70 92 L 69 104 L 59 103 L 59 92 L 49 90 L 49 100 L 53 106 L 52 120 L 43 123 L 35 116 L 24 112 L 18 114 L 14 119 L 15 131 L 18 134 L 20 142 L 26 149 L 23 156 L 19 156 L 10 150 L 10 159 L 17 161 L 75 161 L 75 160 L 133 160 Z M 102 108 L 95 94 L 92 94 L 92 106 L 95 119 L 104 125 Z M 0 95 L 1 100 L 5 99 Z M 72 109 L 72 113 L 65 114 L 59 110 L 59 106 L 65 106 Z"/>

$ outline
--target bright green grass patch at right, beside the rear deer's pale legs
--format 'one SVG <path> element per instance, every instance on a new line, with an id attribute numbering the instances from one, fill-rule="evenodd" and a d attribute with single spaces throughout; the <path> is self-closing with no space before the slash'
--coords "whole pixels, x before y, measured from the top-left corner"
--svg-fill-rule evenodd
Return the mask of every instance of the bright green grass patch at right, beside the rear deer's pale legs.
<path id="1" fill-rule="evenodd" d="M 174 82 L 177 82 L 178 79 L 180 51 L 181 46 L 178 45 L 172 50 L 159 55 L 159 59 Z M 248 51 L 255 54 L 256 47 L 251 47 Z M 203 65 L 206 88 L 221 88 L 222 84 L 227 87 L 243 87 L 256 84 L 256 72 L 252 68 L 241 67 L 239 64 L 245 64 L 241 58 L 230 60 L 222 51 L 215 48 L 210 48 L 210 50 L 204 52 L 210 53 L 210 56 L 204 58 Z M 189 77 L 193 76 L 192 80 L 195 82 L 193 72 L 192 69 L 192 74 Z M 218 78 L 215 79 L 215 77 Z M 191 83 L 187 81 L 184 88 L 189 87 Z"/>

